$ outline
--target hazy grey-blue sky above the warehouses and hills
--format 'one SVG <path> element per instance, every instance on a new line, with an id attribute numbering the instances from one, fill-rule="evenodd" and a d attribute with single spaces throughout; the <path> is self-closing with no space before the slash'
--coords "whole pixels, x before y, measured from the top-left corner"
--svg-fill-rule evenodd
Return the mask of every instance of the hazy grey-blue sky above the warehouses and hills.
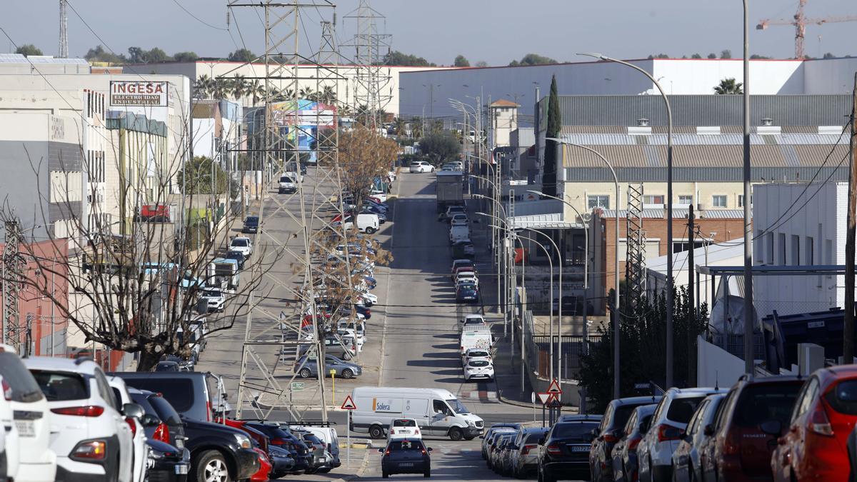
<path id="1" fill-rule="evenodd" d="M 321 3 L 320 0 L 316 0 Z M 261 16 L 255 9 L 236 8 L 226 28 L 227 0 L 69 0 L 86 21 L 69 9 L 69 53 L 83 56 L 98 44 L 124 53 L 129 46 L 160 48 L 172 54 L 195 51 L 201 57 L 225 57 L 247 45 L 259 54 L 264 45 Z M 3 0 L 0 27 L 17 45 L 35 44 L 45 54 L 56 54 L 58 7 L 56 0 Z M 345 44 L 356 24 L 344 18 L 356 0 L 337 3 L 337 30 Z M 750 0 L 751 52 L 778 58 L 794 56 L 794 27 L 755 30 L 763 18 L 791 18 L 797 0 Z M 211 24 L 204 25 L 179 7 Z M 613 57 L 638 58 L 667 53 L 671 57 L 706 56 L 730 49 L 740 57 L 741 2 L 727 0 L 375 0 L 373 7 L 387 16 L 386 29 L 393 48 L 451 64 L 460 54 L 470 63 L 483 60 L 505 65 L 528 52 L 558 61 L 576 60 L 574 52 L 601 51 Z M 303 10 L 300 43 L 303 53 L 319 45 L 321 15 L 332 9 Z M 808 17 L 857 15 L 853 0 L 812 0 Z M 214 28 L 217 27 L 217 28 Z M 380 29 L 384 26 L 381 25 Z M 96 34 L 103 39 L 99 40 Z M 819 39 L 820 35 L 820 39 Z M 857 40 L 857 23 L 829 23 L 807 27 L 806 53 L 837 56 L 857 54 L 846 47 Z M 0 34 L 0 51 L 15 48 Z M 353 49 L 343 48 L 345 55 Z"/>

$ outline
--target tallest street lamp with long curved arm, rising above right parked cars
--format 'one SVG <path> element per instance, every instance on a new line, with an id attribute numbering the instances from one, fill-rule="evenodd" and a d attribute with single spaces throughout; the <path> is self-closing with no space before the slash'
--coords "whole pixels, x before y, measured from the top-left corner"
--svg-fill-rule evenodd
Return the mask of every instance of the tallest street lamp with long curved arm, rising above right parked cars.
<path id="1" fill-rule="evenodd" d="M 746 29 L 745 29 L 746 31 Z M 669 105 L 669 98 L 667 97 L 667 93 L 663 92 L 663 87 L 661 84 L 652 76 L 649 72 L 646 72 L 645 69 L 641 69 L 640 67 L 634 65 L 633 63 L 625 62 L 624 60 L 618 60 L 612 57 L 605 57 L 600 53 L 578 53 L 578 55 L 583 55 L 587 57 L 596 57 L 601 60 L 606 60 L 608 62 L 621 63 L 627 67 L 630 67 L 634 70 L 637 70 L 639 73 L 649 77 L 650 81 L 655 84 L 658 92 L 661 93 L 661 97 L 663 99 L 663 103 L 667 106 L 667 386 L 673 386 L 673 108 Z M 744 56 L 746 57 L 746 55 Z M 746 130 L 746 128 L 745 128 Z M 745 139 L 749 139 L 749 136 L 745 133 Z M 749 143 L 746 143 L 746 151 L 749 153 Z M 749 154 L 746 155 L 749 157 Z M 749 165 L 748 162 L 745 162 L 746 165 Z M 745 166 L 746 171 L 746 166 Z M 747 190 L 745 188 L 745 190 Z M 749 197 L 745 197 L 745 199 L 749 199 Z M 619 206 L 616 206 L 619 208 Z M 618 209 L 616 210 L 618 214 Z M 746 222 L 746 221 L 745 221 Z M 618 247 L 618 246 L 617 246 Z M 745 340 L 746 343 L 746 340 Z"/>

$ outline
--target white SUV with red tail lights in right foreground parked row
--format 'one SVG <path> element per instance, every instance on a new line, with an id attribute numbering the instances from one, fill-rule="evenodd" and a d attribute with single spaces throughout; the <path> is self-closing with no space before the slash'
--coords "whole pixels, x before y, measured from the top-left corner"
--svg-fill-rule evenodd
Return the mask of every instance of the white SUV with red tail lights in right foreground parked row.
<path id="1" fill-rule="evenodd" d="M 637 446 L 639 476 L 642 482 L 661 482 L 673 477 L 673 452 L 684 436 L 687 422 L 708 395 L 726 393 L 725 389 L 668 389 L 655 413 L 650 430 Z"/>

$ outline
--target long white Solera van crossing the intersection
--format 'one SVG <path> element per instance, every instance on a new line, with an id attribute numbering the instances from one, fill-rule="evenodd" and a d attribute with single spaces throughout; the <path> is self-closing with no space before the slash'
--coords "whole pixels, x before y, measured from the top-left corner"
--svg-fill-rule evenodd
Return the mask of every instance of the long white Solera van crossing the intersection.
<path id="1" fill-rule="evenodd" d="M 426 435 L 470 440 L 482 435 L 482 418 L 470 413 L 455 395 L 443 389 L 357 387 L 351 392 L 357 409 L 351 431 L 383 438 L 393 419 L 415 419 Z"/>

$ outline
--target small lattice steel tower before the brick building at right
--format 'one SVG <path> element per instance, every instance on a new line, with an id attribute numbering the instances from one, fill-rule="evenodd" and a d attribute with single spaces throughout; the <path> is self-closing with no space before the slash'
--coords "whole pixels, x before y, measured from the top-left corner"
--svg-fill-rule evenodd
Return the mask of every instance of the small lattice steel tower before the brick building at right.
<path id="1" fill-rule="evenodd" d="M 626 313 L 631 315 L 645 293 L 645 231 L 643 230 L 643 184 L 628 184 L 626 213 L 627 253 L 625 264 Z M 617 246 L 616 249 L 619 247 Z"/>

